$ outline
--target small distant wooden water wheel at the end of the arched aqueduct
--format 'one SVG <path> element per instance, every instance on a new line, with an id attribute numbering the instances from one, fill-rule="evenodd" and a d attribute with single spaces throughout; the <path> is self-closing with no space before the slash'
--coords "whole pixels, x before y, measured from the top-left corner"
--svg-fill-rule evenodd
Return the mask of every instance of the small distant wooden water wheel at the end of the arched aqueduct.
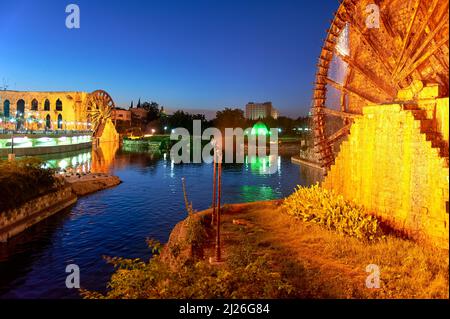
<path id="1" fill-rule="evenodd" d="M 115 104 L 111 96 L 103 90 L 89 94 L 86 102 L 86 111 L 91 121 L 94 136 L 101 135 L 103 126 L 111 118 Z"/>

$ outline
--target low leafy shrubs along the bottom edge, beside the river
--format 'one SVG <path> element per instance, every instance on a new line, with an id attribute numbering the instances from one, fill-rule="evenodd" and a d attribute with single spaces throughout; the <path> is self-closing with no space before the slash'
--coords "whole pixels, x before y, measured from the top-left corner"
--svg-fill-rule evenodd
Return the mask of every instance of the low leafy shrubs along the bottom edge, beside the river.
<path id="1" fill-rule="evenodd" d="M 293 287 L 280 273 L 271 272 L 264 257 L 239 267 L 210 265 L 207 261 L 168 267 L 159 255 L 149 262 L 107 258 L 116 268 L 106 294 L 81 289 L 86 299 L 210 299 L 283 298 Z"/>

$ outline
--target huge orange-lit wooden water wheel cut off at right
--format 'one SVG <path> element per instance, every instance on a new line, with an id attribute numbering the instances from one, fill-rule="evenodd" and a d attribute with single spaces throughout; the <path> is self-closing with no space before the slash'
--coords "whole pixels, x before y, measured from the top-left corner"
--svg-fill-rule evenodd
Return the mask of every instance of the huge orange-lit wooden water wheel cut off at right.
<path id="1" fill-rule="evenodd" d="M 438 84 L 442 96 L 449 91 L 448 0 L 341 2 L 313 98 L 315 146 L 326 169 L 365 105 L 396 101 L 414 80 Z"/>

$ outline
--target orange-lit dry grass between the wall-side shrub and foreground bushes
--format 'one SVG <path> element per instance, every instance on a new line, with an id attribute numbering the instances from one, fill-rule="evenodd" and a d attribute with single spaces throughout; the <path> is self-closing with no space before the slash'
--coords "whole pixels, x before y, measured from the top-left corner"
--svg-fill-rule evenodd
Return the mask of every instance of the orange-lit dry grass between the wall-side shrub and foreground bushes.
<path id="1" fill-rule="evenodd" d="M 265 256 L 294 287 L 293 297 L 449 297 L 448 251 L 394 236 L 364 243 L 298 221 L 283 213 L 279 203 L 229 207 L 222 234 L 228 263 Z M 379 289 L 366 287 L 369 264 L 380 268 Z"/>

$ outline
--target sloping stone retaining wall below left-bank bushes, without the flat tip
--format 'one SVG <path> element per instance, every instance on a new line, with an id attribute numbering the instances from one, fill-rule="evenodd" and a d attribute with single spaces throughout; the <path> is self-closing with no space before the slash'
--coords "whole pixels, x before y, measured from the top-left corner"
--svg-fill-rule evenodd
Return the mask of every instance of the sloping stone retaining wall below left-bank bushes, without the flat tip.
<path id="1" fill-rule="evenodd" d="M 16 209 L 0 212 L 0 242 L 7 241 L 76 201 L 77 197 L 69 186 L 31 200 Z"/>

